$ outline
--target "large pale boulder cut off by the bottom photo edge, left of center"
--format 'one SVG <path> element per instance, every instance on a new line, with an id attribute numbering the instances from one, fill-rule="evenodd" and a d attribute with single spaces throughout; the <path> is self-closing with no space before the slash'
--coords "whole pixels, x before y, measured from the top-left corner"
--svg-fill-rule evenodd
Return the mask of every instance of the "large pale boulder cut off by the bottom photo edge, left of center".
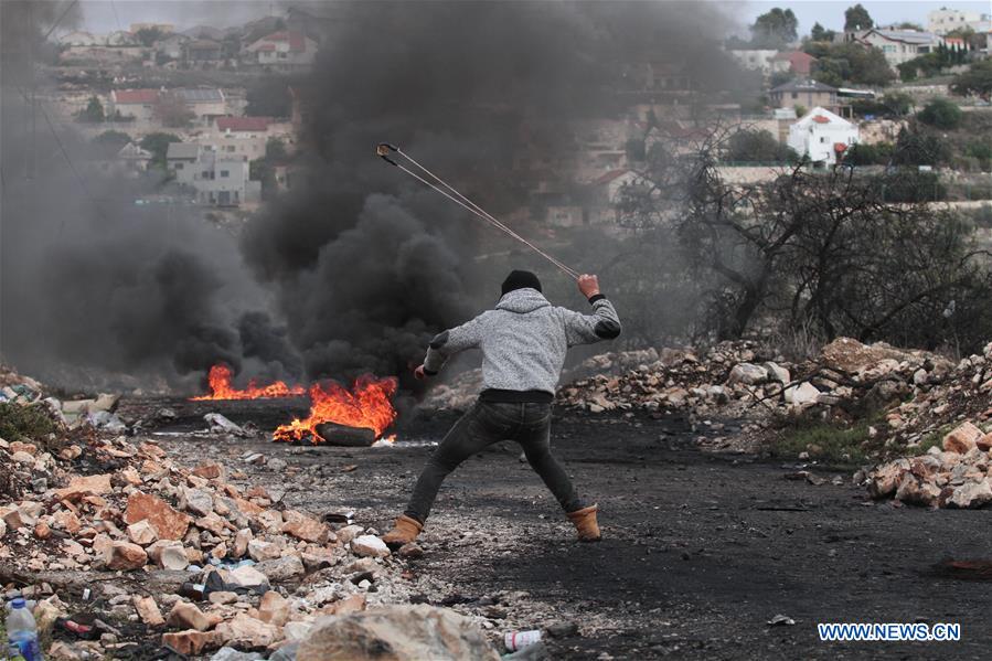
<path id="1" fill-rule="evenodd" d="M 382 659 L 497 661 L 500 655 L 466 617 L 434 606 L 386 606 L 318 619 L 300 643 L 297 659 L 331 661 Z"/>

